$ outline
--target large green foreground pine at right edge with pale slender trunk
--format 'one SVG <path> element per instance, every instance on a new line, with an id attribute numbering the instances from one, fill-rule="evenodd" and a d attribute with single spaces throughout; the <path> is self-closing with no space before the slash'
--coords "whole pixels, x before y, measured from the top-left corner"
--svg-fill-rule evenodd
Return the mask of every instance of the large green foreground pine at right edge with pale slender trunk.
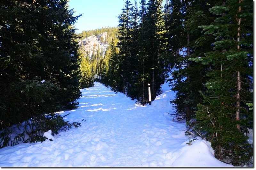
<path id="1" fill-rule="evenodd" d="M 215 42 L 199 61 L 212 67 L 194 129 L 212 143 L 218 159 L 238 166 L 252 157 L 246 135 L 252 128 L 252 111 L 246 105 L 252 103 L 252 2 L 220 1 L 209 11 L 218 18 L 199 28 L 214 35 Z"/>

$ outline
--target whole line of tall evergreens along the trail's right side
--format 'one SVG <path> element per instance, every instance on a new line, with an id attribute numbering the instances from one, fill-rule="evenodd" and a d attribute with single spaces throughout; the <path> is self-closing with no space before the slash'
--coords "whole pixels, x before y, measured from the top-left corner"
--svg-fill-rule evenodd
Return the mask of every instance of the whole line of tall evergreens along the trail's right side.
<path id="1" fill-rule="evenodd" d="M 154 100 L 171 71 L 172 115 L 187 134 L 210 141 L 223 162 L 252 162 L 252 2 L 163 1 L 124 1 L 99 81 L 145 105 L 148 84 Z"/>

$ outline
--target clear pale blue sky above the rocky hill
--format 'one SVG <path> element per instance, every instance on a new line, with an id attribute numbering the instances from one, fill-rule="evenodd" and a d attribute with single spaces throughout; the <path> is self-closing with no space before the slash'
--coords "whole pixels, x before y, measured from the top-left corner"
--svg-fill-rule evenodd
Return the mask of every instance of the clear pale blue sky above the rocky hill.
<path id="1" fill-rule="evenodd" d="M 134 1 L 131 0 L 131 3 Z M 117 16 L 124 8 L 124 0 L 69 0 L 69 8 L 74 8 L 75 16 L 83 13 L 77 20 L 76 32 L 92 30 L 101 27 L 118 25 Z M 139 4 L 139 1 L 138 1 Z"/>

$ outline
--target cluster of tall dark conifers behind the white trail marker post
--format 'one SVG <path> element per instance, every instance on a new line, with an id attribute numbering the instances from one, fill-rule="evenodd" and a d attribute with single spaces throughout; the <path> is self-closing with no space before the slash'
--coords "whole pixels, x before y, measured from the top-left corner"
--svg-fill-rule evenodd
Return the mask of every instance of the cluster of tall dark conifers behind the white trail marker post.
<path id="1" fill-rule="evenodd" d="M 139 11 L 137 1 L 132 5 L 126 0 L 118 16 L 118 53 L 111 53 L 109 58 L 109 70 L 115 75 L 109 75 L 109 85 L 144 105 L 148 102 L 148 83 L 154 100 L 166 77 L 166 30 L 162 1 L 146 4 L 142 0 L 140 4 Z"/>

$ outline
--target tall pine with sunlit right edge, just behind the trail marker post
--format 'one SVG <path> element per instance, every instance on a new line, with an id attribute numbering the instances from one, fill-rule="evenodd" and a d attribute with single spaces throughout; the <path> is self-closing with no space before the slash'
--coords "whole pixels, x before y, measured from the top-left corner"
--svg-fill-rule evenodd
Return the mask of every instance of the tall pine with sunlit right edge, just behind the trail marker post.
<path id="1" fill-rule="evenodd" d="M 146 51 L 148 57 L 147 73 L 151 85 L 151 97 L 155 99 L 160 94 L 160 86 L 164 84 L 166 78 L 164 61 L 166 55 L 166 30 L 164 23 L 164 13 L 162 11 L 163 0 L 150 0 L 146 14 Z"/>

